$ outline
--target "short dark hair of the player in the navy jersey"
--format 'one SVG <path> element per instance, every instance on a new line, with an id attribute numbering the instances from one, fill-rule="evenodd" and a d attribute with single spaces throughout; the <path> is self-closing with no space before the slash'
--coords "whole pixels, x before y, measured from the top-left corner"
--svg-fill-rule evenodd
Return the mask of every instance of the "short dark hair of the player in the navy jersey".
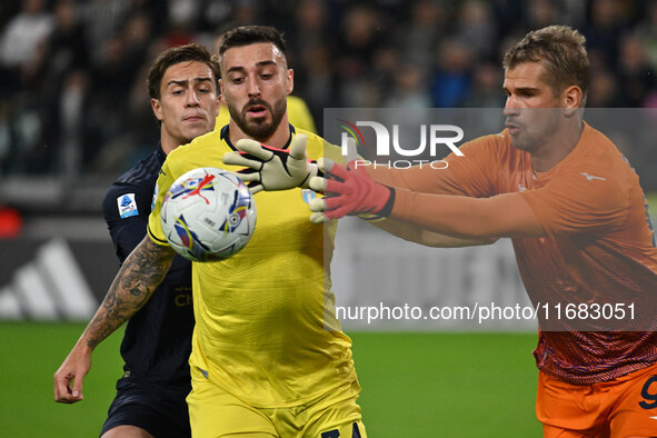
<path id="1" fill-rule="evenodd" d="M 197 43 L 177 46 L 161 52 L 148 71 L 146 86 L 151 99 L 160 98 L 160 87 L 167 69 L 187 61 L 199 61 L 208 66 L 215 76 L 215 86 L 217 86 L 217 81 L 219 80 L 219 62 L 217 62 L 217 59 L 212 57 L 210 51 L 205 46 Z"/>

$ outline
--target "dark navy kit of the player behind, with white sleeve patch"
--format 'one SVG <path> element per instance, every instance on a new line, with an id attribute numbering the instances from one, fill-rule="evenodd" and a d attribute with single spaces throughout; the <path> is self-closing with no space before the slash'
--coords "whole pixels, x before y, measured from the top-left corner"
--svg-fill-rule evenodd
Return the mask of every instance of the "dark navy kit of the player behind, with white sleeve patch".
<path id="1" fill-rule="evenodd" d="M 121 262 L 146 235 L 152 193 L 165 158 L 158 146 L 121 176 L 104 197 L 104 220 Z M 193 330 L 191 262 L 176 257 L 160 290 L 126 327 L 121 344 L 125 374 L 117 382 L 117 398 L 103 432 L 129 424 L 155 437 L 165 436 L 157 427 L 165 427 L 172 434 L 169 436 L 190 435 L 185 397 L 191 389 L 188 365 Z M 137 396 L 141 401 L 137 400 L 137 392 L 143 392 L 145 397 Z M 168 421 L 160 420 L 163 418 Z"/>

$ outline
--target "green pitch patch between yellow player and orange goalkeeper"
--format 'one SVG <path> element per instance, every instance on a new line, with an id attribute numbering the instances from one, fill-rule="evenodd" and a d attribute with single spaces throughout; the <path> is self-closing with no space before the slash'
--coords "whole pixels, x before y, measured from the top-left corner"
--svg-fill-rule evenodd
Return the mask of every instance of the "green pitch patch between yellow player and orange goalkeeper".
<path id="1" fill-rule="evenodd" d="M 370 437 L 540 437 L 536 334 L 350 334 Z"/>

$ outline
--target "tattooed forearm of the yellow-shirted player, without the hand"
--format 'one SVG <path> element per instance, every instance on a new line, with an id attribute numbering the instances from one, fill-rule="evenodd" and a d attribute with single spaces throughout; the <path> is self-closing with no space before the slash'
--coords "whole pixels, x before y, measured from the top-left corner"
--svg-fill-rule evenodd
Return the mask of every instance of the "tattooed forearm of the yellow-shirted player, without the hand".
<path id="1" fill-rule="evenodd" d="M 167 275 L 173 255 L 172 249 L 153 243 L 148 236 L 135 248 L 87 327 L 84 337 L 90 348 L 94 348 L 146 305 Z"/>

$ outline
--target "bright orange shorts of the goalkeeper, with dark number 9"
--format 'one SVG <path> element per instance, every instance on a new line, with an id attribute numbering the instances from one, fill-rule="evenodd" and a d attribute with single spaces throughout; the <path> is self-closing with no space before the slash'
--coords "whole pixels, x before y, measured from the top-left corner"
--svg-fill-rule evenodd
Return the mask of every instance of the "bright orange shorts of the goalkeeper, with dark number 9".
<path id="1" fill-rule="evenodd" d="M 536 416 L 545 438 L 655 437 L 657 364 L 585 386 L 539 372 Z"/>

